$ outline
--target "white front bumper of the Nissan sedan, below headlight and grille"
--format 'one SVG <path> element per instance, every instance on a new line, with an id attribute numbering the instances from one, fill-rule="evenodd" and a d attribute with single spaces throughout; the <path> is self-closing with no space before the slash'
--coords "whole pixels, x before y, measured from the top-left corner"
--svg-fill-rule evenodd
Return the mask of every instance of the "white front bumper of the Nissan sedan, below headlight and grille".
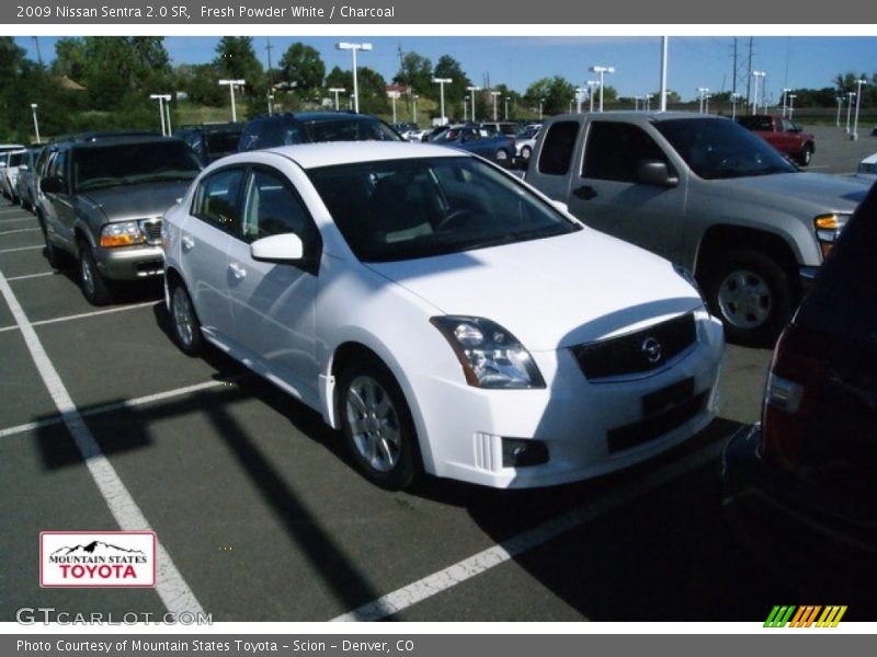
<path id="1" fill-rule="evenodd" d="M 546 381 L 540 390 L 482 390 L 420 372 L 418 428 L 429 437 L 426 470 L 493 487 L 535 487 L 594 477 L 648 460 L 702 430 L 718 411 L 717 380 L 724 350 L 721 324 L 702 311 L 698 339 L 647 376 L 589 381 L 570 349 L 533 354 Z M 645 399 L 688 387 L 652 415 Z M 453 410 L 453 411 L 451 411 Z M 503 462 L 508 439 L 540 441 L 548 460 Z"/>

